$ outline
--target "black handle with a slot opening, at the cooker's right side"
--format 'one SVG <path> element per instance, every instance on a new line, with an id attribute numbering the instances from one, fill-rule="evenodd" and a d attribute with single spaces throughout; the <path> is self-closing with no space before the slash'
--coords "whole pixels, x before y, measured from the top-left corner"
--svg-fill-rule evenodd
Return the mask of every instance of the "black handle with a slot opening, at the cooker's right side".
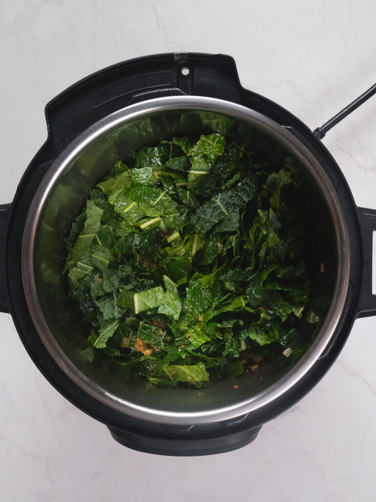
<path id="1" fill-rule="evenodd" d="M 372 294 L 372 239 L 376 230 L 376 209 L 358 207 L 358 220 L 363 260 L 356 311 L 357 317 L 368 317 L 376 315 L 376 295 Z"/>

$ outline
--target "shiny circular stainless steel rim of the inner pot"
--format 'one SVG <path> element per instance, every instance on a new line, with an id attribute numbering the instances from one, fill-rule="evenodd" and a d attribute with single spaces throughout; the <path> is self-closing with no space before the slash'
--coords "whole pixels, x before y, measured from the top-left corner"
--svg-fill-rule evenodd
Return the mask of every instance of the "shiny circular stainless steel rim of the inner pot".
<path id="1" fill-rule="evenodd" d="M 332 302 L 319 333 L 298 362 L 281 379 L 261 393 L 235 405 L 187 413 L 147 408 L 120 399 L 95 384 L 73 364 L 55 340 L 41 309 L 34 276 L 34 246 L 43 207 L 51 190 L 64 169 L 85 147 L 129 120 L 164 111 L 193 110 L 219 113 L 253 124 L 285 145 L 305 166 L 320 188 L 333 219 L 338 273 Z M 343 311 L 349 285 L 350 246 L 343 210 L 334 186 L 315 156 L 286 128 L 262 113 L 230 101 L 204 96 L 169 96 L 142 101 L 104 117 L 75 138 L 58 156 L 41 181 L 30 205 L 22 242 L 21 266 L 25 298 L 34 326 L 51 357 L 76 385 L 106 406 L 134 418 L 164 424 L 194 425 L 230 420 L 260 410 L 287 393 L 311 369 L 334 335 Z"/>

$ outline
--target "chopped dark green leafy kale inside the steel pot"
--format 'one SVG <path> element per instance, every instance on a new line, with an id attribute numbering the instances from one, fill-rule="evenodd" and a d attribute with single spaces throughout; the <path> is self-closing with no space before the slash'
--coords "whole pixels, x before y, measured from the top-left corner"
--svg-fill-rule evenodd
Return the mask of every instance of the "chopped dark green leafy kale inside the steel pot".
<path id="1" fill-rule="evenodd" d="M 129 377 L 200 388 L 242 374 L 252 354 L 303 346 L 302 325 L 320 317 L 288 163 L 257 164 L 215 132 L 124 161 L 67 239 L 70 296 L 93 347 Z"/>

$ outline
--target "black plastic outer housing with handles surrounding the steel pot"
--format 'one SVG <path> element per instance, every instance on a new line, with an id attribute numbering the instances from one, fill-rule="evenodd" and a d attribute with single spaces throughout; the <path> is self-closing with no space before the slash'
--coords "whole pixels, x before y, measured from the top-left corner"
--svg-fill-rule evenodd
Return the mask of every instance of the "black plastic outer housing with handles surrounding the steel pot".
<path id="1" fill-rule="evenodd" d="M 168 426 L 136 420 L 96 401 L 75 385 L 42 344 L 28 312 L 21 277 L 26 216 L 36 188 L 54 159 L 75 137 L 106 115 L 137 101 L 176 94 L 233 101 L 288 128 L 316 156 L 336 187 L 350 237 L 347 301 L 340 325 L 324 356 L 293 389 L 268 407 L 231 421 L 196 426 Z M 94 73 L 62 92 L 46 106 L 46 120 L 46 143 L 26 170 L 13 203 L 0 206 L 0 310 L 12 314 L 29 355 L 49 382 L 79 409 L 106 424 L 121 444 L 150 453 L 204 455 L 233 450 L 251 442 L 262 424 L 287 410 L 317 384 L 340 352 L 354 319 L 373 313 L 376 304 L 364 293 L 360 281 L 362 276 L 363 280 L 370 277 L 369 254 L 365 259 L 362 241 L 369 247 L 369 235 L 376 226 L 374 212 L 364 216 L 368 222 L 365 224 L 339 167 L 326 148 L 294 115 L 244 89 L 235 62 L 229 56 L 175 53 L 125 61 Z"/>

